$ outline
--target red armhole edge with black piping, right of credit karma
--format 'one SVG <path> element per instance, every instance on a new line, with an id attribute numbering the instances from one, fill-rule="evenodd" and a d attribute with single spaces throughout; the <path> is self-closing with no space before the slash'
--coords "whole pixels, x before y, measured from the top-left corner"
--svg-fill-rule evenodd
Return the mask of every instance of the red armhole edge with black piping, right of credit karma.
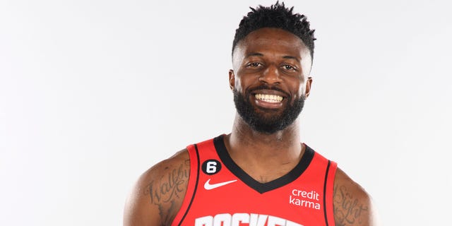
<path id="1" fill-rule="evenodd" d="M 334 222 L 334 208 L 333 208 L 333 192 L 334 192 L 334 178 L 336 174 L 336 169 L 338 169 L 338 164 L 333 161 L 328 161 L 327 172 L 325 175 L 325 218 L 327 226 L 335 226 Z"/>

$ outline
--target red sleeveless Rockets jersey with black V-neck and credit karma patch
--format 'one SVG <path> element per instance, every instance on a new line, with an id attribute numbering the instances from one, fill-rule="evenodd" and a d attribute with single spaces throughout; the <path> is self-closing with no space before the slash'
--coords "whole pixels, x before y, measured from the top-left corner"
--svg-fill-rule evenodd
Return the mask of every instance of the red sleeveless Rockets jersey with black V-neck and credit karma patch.
<path id="1" fill-rule="evenodd" d="M 227 153 L 223 135 L 187 147 L 190 177 L 172 226 L 334 226 L 337 165 L 306 145 L 297 166 L 260 183 Z"/>

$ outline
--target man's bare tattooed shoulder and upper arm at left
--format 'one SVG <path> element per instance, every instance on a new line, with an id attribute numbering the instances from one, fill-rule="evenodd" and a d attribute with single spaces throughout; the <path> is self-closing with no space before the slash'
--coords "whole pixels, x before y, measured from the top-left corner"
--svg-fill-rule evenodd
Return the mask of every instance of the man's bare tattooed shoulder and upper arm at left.
<path id="1" fill-rule="evenodd" d="M 189 181 L 186 149 L 141 174 L 124 208 L 124 225 L 171 225 L 182 206 Z"/>

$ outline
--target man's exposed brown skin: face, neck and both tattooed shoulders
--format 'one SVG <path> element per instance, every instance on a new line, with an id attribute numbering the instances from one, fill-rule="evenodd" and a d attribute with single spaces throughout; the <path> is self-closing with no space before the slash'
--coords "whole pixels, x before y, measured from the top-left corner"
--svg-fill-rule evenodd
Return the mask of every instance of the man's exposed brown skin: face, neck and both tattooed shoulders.
<path id="1" fill-rule="evenodd" d="M 290 32 L 278 28 L 251 32 L 234 49 L 232 65 L 231 89 L 245 93 L 266 83 L 285 91 L 259 90 L 247 97 L 263 117 L 280 114 L 291 104 L 288 100 L 309 96 L 309 49 Z M 254 94 L 277 95 L 283 100 L 266 102 Z M 300 141 L 298 120 L 282 131 L 266 134 L 251 129 L 238 114 L 225 145 L 234 162 L 261 183 L 287 174 L 306 148 Z M 184 200 L 189 170 L 189 155 L 181 150 L 143 173 L 126 201 L 124 225 L 171 225 Z M 376 225 L 371 198 L 341 169 L 335 174 L 333 209 L 337 226 Z"/>

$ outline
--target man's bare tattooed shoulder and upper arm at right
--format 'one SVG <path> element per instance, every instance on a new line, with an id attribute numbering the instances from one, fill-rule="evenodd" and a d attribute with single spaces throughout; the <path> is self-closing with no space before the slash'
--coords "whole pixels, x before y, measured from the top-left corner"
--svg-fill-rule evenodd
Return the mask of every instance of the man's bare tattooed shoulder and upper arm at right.
<path id="1" fill-rule="evenodd" d="M 341 169 L 334 180 L 334 220 L 336 226 L 376 226 L 371 197 Z"/>

